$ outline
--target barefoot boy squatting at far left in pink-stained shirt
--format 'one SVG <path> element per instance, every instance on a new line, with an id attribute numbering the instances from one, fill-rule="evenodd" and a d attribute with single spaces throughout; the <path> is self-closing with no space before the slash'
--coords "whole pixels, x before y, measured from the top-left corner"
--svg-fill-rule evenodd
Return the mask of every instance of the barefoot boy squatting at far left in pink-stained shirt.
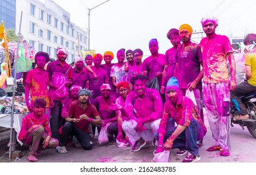
<path id="1" fill-rule="evenodd" d="M 49 118 L 44 114 L 46 101 L 42 98 L 34 99 L 34 112 L 22 119 L 21 131 L 18 139 L 29 146 L 30 152 L 28 160 L 38 161 L 36 156 L 40 156 L 40 149 L 56 148 L 59 141 L 51 137 L 49 128 Z"/>

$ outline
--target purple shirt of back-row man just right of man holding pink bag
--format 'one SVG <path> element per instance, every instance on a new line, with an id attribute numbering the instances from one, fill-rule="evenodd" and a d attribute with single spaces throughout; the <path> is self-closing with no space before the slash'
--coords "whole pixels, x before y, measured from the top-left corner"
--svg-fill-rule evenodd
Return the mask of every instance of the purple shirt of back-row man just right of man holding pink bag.
<path id="1" fill-rule="evenodd" d="M 78 85 L 81 86 L 83 89 L 85 88 L 85 83 L 88 80 L 87 79 L 87 74 L 88 72 L 86 71 L 87 69 L 84 68 L 83 71 L 79 72 L 78 69 L 73 68 L 72 69 L 72 85 Z"/>

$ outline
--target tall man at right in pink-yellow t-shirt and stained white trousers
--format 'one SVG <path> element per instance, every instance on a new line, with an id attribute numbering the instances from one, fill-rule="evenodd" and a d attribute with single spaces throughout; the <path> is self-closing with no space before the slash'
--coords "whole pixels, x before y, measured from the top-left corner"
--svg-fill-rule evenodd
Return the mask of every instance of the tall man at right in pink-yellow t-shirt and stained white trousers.
<path id="1" fill-rule="evenodd" d="M 203 56 L 203 103 L 212 130 L 214 145 L 207 151 L 220 151 L 230 156 L 230 90 L 235 89 L 235 61 L 227 36 L 215 33 L 218 20 L 206 17 L 202 21 L 207 37 L 200 42 Z M 228 78 L 227 61 L 230 65 Z"/>

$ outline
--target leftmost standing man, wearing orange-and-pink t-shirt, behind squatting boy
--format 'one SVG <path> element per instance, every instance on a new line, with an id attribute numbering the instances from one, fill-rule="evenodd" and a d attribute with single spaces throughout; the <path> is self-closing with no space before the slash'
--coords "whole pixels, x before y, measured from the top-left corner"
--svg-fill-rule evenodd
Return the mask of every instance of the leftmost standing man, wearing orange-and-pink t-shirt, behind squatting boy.
<path id="1" fill-rule="evenodd" d="M 25 86 L 25 99 L 28 109 L 31 113 L 34 112 L 33 101 L 36 98 L 43 98 L 46 101 L 46 110 L 48 118 L 51 116 L 50 99 L 49 99 L 49 74 L 44 69 L 44 65 L 49 61 L 49 54 L 44 52 L 38 52 L 34 56 L 34 61 L 37 67 L 28 71 L 26 76 Z M 30 102 L 29 102 L 30 93 Z M 53 103 L 53 101 L 52 101 Z"/>

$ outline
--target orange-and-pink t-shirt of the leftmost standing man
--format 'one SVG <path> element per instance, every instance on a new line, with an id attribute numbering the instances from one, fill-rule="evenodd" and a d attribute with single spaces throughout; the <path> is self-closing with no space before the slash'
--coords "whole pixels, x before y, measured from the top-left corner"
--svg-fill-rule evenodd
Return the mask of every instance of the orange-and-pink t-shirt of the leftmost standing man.
<path id="1" fill-rule="evenodd" d="M 43 98 L 46 101 L 46 108 L 49 107 L 49 75 L 46 70 L 39 71 L 38 68 L 28 71 L 25 83 L 30 84 L 30 96 L 34 101 L 36 98 Z"/>

